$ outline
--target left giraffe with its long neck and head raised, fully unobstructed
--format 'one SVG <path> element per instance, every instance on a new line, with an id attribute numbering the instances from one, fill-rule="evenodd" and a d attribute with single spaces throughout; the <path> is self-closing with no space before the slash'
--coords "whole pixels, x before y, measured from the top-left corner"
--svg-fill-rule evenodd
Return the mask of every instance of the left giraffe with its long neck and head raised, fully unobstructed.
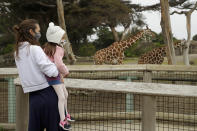
<path id="1" fill-rule="evenodd" d="M 98 50 L 94 58 L 94 64 L 96 65 L 102 65 L 105 64 L 122 64 L 124 59 L 124 51 L 125 49 L 132 46 L 137 40 L 139 40 L 144 35 L 149 35 L 151 37 L 154 37 L 155 34 L 150 29 L 143 29 L 139 31 L 136 35 L 130 37 L 127 40 L 123 40 L 120 42 L 114 42 L 107 48 L 103 48 L 101 50 Z"/>

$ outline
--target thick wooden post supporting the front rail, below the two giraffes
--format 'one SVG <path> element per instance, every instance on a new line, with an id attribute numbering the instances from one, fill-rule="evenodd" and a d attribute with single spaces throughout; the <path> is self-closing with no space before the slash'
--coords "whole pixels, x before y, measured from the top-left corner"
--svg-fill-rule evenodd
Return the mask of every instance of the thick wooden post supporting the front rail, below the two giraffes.
<path id="1" fill-rule="evenodd" d="M 145 71 L 144 82 L 152 82 L 152 72 Z M 156 131 L 156 96 L 142 98 L 142 131 Z"/>

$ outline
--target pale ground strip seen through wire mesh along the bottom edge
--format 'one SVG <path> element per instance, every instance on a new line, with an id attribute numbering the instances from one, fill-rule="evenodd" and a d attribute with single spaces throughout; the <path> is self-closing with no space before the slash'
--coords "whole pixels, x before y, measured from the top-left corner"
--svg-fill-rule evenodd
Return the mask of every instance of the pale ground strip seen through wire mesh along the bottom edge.
<path id="1" fill-rule="evenodd" d="M 116 123 L 114 121 L 76 122 L 72 124 L 72 131 L 140 131 L 141 123 Z M 196 131 L 194 126 L 171 125 L 157 123 L 156 131 Z"/>

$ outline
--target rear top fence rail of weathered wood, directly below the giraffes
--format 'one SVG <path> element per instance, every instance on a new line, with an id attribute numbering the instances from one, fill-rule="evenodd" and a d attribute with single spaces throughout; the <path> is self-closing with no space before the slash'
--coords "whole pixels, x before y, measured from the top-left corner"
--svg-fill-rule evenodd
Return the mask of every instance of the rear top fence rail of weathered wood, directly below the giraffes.
<path id="1" fill-rule="evenodd" d="M 185 65 L 68 65 L 70 72 L 86 71 L 176 71 L 197 72 L 197 66 Z M 0 76 L 17 75 L 16 68 L 0 68 Z"/>

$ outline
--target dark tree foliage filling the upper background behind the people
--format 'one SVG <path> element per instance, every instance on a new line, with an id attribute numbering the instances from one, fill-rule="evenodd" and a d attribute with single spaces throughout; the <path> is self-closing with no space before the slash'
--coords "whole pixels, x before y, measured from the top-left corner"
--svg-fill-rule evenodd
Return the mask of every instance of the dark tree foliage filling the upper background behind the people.
<path id="1" fill-rule="evenodd" d="M 170 5 L 175 7 L 185 2 L 186 0 L 171 0 Z M 98 39 L 93 43 L 96 50 L 107 47 L 114 42 L 110 26 L 141 26 L 144 24 L 141 11 L 160 8 L 159 3 L 144 7 L 133 4 L 130 0 L 63 0 L 63 4 L 68 37 L 75 53 L 79 48 L 88 45 L 87 37 L 95 33 L 98 35 Z M 3 34 L 0 45 L 4 48 L 14 42 L 12 27 L 23 19 L 34 18 L 39 21 L 41 43 L 46 41 L 48 23 L 53 21 L 58 24 L 54 0 L 3 0 L 0 2 L 0 17 L 0 34 Z"/>

